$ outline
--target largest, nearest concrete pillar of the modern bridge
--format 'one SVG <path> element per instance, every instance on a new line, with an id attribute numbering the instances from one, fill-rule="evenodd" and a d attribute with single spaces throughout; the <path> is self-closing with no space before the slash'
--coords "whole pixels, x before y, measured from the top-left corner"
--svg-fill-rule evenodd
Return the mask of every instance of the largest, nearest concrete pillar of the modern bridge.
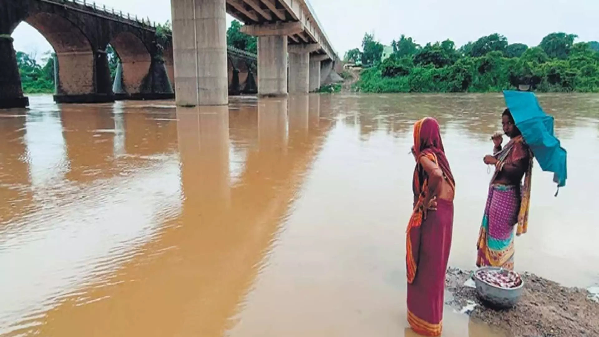
<path id="1" fill-rule="evenodd" d="M 178 106 L 228 104 L 225 0 L 171 0 Z"/>

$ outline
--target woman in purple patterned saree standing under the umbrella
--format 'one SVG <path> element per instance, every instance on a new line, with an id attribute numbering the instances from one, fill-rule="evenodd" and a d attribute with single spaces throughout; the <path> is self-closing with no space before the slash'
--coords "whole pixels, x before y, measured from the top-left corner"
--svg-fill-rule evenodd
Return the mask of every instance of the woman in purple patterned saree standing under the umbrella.
<path id="1" fill-rule="evenodd" d="M 501 134 L 495 134 L 492 137 L 494 154 L 483 159 L 485 164 L 495 166 L 495 173 L 480 226 L 476 265 L 513 269 L 513 227 L 518 224 L 518 235 L 526 232 L 533 154 L 509 109 L 503 112 L 501 124 L 510 141 L 502 148 L 503 138 Z M 521 185 L 524 176 L 525 182 Z"/>

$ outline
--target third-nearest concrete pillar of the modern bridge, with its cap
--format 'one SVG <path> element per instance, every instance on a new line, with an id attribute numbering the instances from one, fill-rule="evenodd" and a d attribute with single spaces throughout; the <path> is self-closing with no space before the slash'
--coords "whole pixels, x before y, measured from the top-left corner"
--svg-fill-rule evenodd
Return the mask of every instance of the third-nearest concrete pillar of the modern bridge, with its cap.
<path id="1" fill-rule="evenodd" d="M 310 91 L 310 53 L 319 48 L 316 43 L 288 47 L 290 94 L 307 94 Z"/>

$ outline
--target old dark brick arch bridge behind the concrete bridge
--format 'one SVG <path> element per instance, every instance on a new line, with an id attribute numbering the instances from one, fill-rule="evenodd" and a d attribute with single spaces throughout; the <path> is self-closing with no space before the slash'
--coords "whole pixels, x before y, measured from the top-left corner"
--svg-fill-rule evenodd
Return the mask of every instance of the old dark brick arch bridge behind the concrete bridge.
<path id="1" fill-rule="evenodd" d="M 91 1 L 0 0 L 0 108 L 28 104 L 10 37 L 21 22 L 37 29 L 56 52 L 58 103 L 174 98 L 172 38 L 157 37 L 151 23 Z M 124 94 L 113 92 L 108 44 L 122 62 Z M 256 92 L 256 55 L 231 48 L 227 54 L 229 92 Z"/>

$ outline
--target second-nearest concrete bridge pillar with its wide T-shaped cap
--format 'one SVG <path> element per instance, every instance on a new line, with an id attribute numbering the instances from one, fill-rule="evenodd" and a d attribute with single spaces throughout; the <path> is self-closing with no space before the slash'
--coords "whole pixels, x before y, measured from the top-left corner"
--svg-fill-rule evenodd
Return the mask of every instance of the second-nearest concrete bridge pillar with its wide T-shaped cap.
<path id="1" fill-rule="evenodd" d="M 241 28 L 241 32 L 258 37 L 259 97 L 287 96 L 287 37 L 302 31 L 301 22 L 246 25 Z"/>

